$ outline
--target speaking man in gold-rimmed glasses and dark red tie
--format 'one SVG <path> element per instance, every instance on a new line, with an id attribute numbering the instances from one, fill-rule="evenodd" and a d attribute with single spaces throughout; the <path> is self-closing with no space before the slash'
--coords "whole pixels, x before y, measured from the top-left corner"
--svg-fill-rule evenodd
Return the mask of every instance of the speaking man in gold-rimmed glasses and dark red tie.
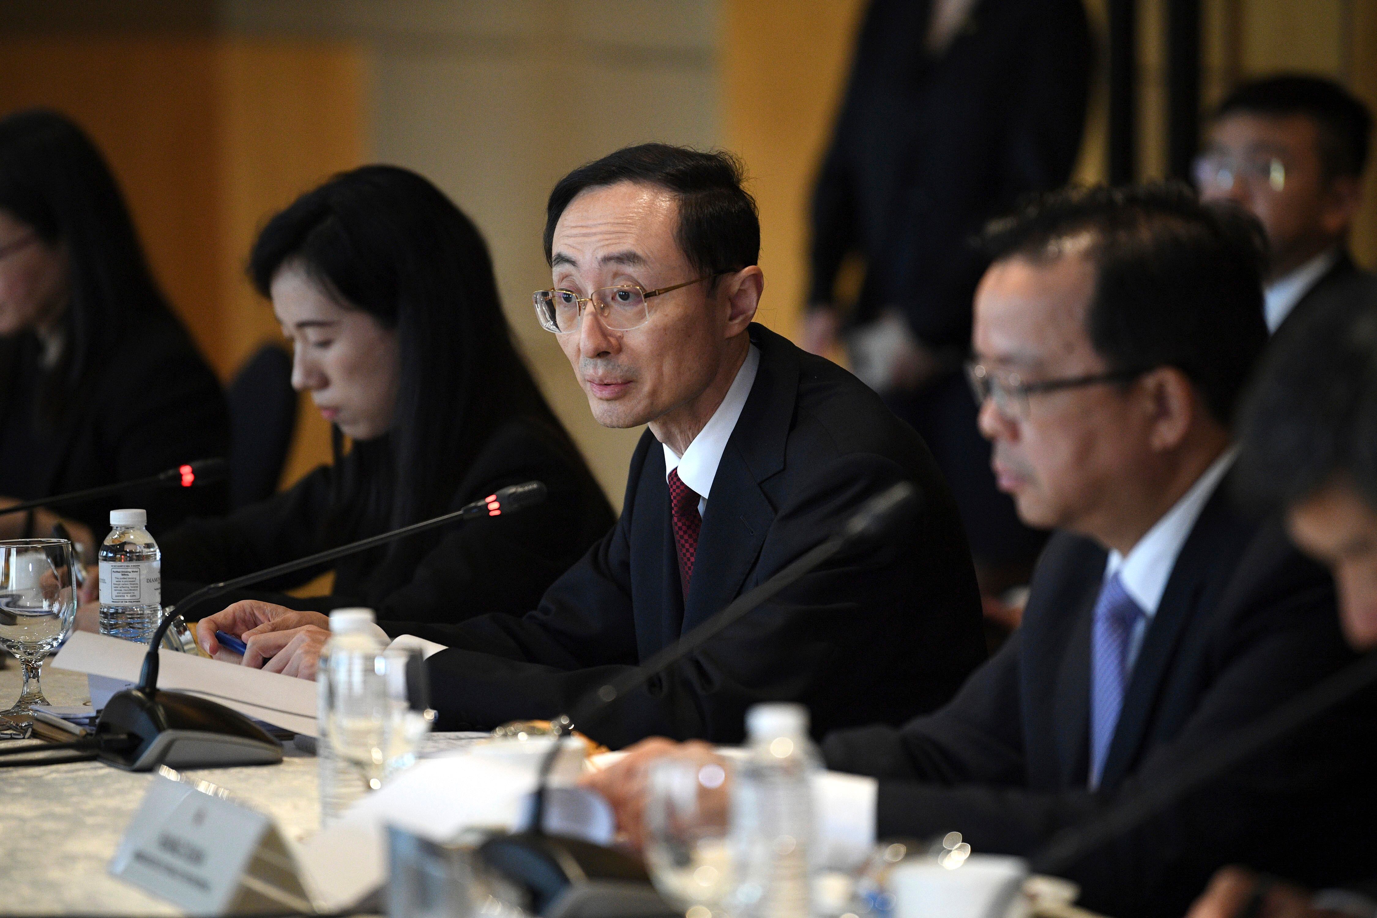
<path id="1" fill-rule="evenodd" d="M 844 552 L 690 659 L 580 724 L 738 740 L 746 707 L 790 699 L 817 731 L 931 710 L 982 661 L 975 575 L 952 497 L 912 428 L 851 374 L 752 323 L 760 224 L 727 156 L 644 145 L 555 186 L 554 285 L 536 293 L 607 427 L 649 424 L 617 526 L 523 618 L 387 623 L 431 651 L 446 729 L 552 717 L 837 530 L 895 482 L 918 513 Z M 237 603 L 198 626 L 246 637 L 246 665 L 313 676 L 325 619 Z"/>

